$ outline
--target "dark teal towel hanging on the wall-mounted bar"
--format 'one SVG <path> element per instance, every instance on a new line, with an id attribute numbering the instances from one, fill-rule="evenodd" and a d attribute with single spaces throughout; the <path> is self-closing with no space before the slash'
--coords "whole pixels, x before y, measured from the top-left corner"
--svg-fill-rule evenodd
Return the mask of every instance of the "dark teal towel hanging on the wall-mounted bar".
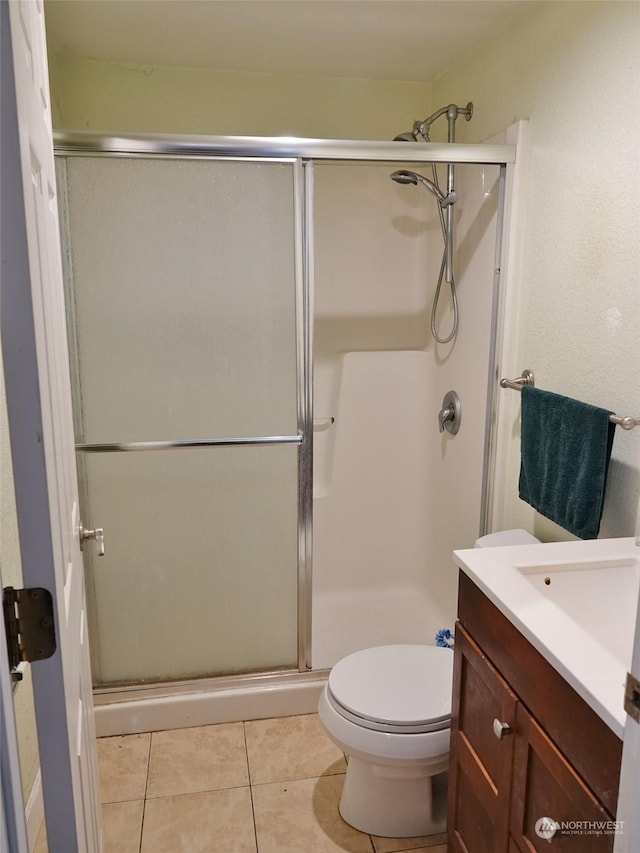
<path id="1" fill-rule="evenodd" d="M 610 414 L 522 388 L 520 497 L 581 539 L 595 539 L 600 529 L 615 435 Z"/>

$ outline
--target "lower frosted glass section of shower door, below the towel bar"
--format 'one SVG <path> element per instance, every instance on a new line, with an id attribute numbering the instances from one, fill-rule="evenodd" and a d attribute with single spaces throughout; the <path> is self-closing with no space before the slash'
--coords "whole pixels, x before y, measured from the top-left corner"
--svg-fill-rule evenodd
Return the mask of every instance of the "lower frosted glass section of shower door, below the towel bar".
<path id="1" fill-rule="evenodd" d="M 87 550 L 98 685 L 296 668 L 296 447 L 85 464 L 106 542 Z"/>

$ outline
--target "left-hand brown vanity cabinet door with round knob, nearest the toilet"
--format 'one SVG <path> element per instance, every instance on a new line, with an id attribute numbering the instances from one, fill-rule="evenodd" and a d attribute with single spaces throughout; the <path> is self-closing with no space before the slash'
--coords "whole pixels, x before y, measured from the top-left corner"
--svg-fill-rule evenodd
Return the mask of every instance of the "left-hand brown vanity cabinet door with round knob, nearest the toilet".
<path id="1" fill-rule="evenodd" d="M 507 853 L 517 699 L 458 623 L 449 766 L 449 848 Z M 499 738 L 494 721 L 509 726 Z"/>

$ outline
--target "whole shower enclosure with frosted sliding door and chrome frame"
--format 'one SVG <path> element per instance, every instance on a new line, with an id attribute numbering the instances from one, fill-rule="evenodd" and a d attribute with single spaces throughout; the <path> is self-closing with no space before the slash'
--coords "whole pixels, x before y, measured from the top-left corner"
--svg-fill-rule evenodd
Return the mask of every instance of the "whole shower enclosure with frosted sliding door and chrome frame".
<path id="1" fill-rule="evenodd" d="M 489 513 L 513 146 L 56 144 L 83 518 L 105 530 L 85 557 L 96 687 L 276 683 L 432 642 L 451 548 Z M 389 174 L 449 162 L 461 331 L 440 346 L 437 213 Z"/>

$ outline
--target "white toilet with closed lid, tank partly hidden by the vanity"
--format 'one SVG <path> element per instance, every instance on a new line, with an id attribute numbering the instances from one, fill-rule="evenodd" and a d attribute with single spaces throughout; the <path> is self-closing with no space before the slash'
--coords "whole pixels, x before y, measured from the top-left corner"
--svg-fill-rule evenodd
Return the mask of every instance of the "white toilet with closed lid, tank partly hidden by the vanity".
<path id="1" fill-rule="evenodd" d="M 505 530 L 476 547 L 538 541 Z M 444 830 L 452 684 L 453 653 L 439 646 L 376 646 L 333 667 L 318 713 L 348 756 L 340 814 L 351 826 L 390 838 Z"/>

